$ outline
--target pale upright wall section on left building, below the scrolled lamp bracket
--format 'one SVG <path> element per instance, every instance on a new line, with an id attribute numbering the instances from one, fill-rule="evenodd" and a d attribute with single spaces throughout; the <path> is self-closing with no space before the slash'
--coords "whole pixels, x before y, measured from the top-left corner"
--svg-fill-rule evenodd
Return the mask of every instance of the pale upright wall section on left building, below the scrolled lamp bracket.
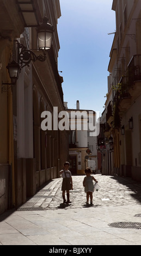
<path id="1" fill-rule="evenodd" d="M 17 158 L 33 158 L 32 69 L 23 68 L 17 90 Z"/>

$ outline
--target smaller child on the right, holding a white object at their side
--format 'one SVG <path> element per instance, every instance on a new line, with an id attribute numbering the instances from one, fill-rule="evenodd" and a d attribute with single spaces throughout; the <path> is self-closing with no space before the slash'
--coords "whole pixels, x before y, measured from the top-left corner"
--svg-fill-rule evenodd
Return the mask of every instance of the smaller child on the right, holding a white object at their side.
<path id="1" fill-rule="evenodd" d="M 90 197 L 90 204 L 93 205 L 93 192 L 94 192 L 94 184 L 93 184 L 93 180 L 95 182 L 98 182 L 94 176 L 91 176 L 91 169 L 90 168 L 86 168 L 85 169 L 85 178 L 83 180 L 83 186 L 84 186 L 84 191 L 86 193 L 86 198 L 87 198 L 87 204 L 89 204 L 89 197 Z"/>

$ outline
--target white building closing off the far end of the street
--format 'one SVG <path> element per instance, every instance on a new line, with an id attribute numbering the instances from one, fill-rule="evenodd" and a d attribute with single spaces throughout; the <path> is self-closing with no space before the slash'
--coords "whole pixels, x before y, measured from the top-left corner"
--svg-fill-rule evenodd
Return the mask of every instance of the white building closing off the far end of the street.
<path id="1" fill-rule="evenodd" d="M 70 117 L 69 136 L 69 162 L 72 174 L 84 174 L 84 170 L 91 165 L 92 169 L 97 169 L 97 132 L 95 128 L 96 112 L 79 108 L 77 101 L 76 109 L 68 109 L 65 102 L 66 111 Z M 95 161 L 95 167 L 93 162 Z"/>

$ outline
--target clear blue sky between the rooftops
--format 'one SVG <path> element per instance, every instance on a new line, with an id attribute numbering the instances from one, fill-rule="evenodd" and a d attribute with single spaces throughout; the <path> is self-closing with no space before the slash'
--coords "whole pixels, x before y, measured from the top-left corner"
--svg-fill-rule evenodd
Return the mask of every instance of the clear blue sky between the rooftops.
<path id="1" fill-rule="evenodd" d="M 115 32 L 113 0 L 60 0 L 58 70 L 68 108 L 102 114 L 106 101 L 109 53 Z"/>

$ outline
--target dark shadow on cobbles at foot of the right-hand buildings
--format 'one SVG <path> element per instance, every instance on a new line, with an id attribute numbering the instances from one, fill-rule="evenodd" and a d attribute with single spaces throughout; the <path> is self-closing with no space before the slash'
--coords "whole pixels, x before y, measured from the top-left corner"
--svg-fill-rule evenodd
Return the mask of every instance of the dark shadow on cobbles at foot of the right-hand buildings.
<path id="1" fill-rule="evenodd" d="M 130 177 L 113 176 L 111 179 L 117 180 L 120 184 L 128 187 L 129 190 L 134 192 L 131 196 L 141 203 L 141 183 L 133 180 Z"/>

